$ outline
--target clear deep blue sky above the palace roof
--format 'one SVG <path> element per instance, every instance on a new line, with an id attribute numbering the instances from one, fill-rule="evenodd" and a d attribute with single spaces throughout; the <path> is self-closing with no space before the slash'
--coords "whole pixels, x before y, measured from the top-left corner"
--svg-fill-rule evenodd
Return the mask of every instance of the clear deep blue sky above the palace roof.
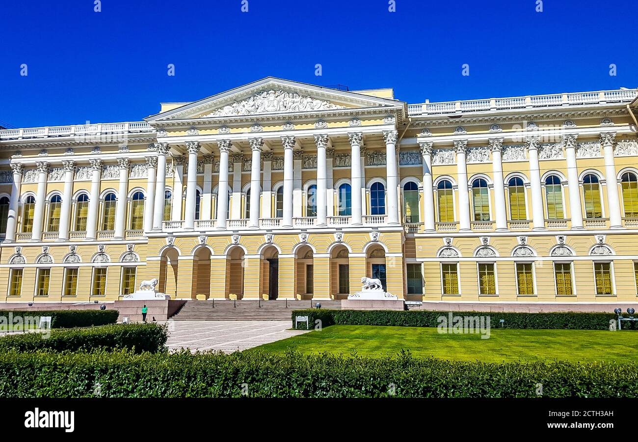
<path id="1" fill-rule="evenodd" d="M 541 13 L 535 0 L 396 0 L 393 13 L 387 0 L 248 0 L 248 8 L 102 0 L 94 12 L 93 0 L 4 0 L 0 120 L 138 121 L 159 102 L 270 75 L 391 87 L 410 103 L 638 86 L 635 0 L 545 0 Z"/>

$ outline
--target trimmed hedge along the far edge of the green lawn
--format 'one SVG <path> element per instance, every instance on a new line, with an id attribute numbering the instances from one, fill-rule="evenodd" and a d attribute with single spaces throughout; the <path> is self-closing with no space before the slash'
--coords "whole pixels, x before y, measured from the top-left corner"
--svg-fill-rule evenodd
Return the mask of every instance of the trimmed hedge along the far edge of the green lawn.
<path id="1" fill-rule="evenodd" d="M 491 328 L 534 328 L 534 329 L 570 329 L 570 330 L 609 330 L 609 321 L 618 317 L 613 313 L 502 313 L 502 312 L 451 312 L 452 316 L 489 316 Z M 316 319 L 322 326 L 332 324 L 348 325 L 385 325 L 405 327 L 436 327 L 438 318 L 449 318 L 450 312 L 431 310 L 325 310 L 308 309 L 292 312 L 292 326 L 295 328 L 295 316 L 309 316 L 311 324 Z M 505 322 L 500 323 L 503 319 Z M 306 329 L 306 323 L 299 324 Z M 311 327 L 312 328 L 312 327 Z M 635 329 L 634 321 L 625 321 L 623 329 Z"/>

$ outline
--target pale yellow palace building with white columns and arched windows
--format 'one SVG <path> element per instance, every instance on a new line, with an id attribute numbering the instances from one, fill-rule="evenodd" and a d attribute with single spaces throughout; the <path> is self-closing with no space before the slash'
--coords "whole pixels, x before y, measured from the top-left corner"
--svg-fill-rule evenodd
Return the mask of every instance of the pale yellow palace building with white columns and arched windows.
<path id="1" fill-rule="evenodd" d="M 636 89 L 408 104 L 266 78 L 0 130 L 0 302 L 636 301 Z M 233 296 L 235 295 L 235 296 Z"/>

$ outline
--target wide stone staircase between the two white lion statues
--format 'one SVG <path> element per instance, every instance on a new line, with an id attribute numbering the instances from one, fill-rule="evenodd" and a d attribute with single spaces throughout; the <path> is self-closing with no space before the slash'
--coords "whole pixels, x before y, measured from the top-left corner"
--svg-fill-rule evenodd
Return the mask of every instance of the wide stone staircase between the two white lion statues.
<path id="1" fill-rule="evenodd" d="M 321 303 L 322 309 L 341 310 L 339 300 L 206 300 L 186 301 L 170 319 L 176 321 L 290 321 L 293 310 L 314 309 Z"/>

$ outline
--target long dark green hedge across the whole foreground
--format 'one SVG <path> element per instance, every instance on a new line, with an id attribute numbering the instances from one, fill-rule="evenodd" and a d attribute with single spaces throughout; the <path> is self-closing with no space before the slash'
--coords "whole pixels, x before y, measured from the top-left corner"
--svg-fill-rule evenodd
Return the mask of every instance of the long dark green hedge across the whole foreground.
<path id="1" fill-rule="evenodd" d="M 0 353 L 0 397 L 638 397 L 638 365 L 221 354 Z M 394 389 L 394 394 L 392 390 Z"/>

